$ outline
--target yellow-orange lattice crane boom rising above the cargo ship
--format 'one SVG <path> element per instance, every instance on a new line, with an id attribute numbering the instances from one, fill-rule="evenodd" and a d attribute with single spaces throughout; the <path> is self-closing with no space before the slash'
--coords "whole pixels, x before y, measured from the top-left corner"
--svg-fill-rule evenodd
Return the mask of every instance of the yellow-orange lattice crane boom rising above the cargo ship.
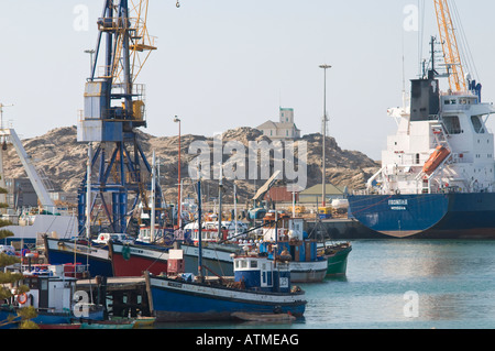
<path id="1" fill-rule="evenodd" d="M 458 40 L 453 28 L 452 17 L 450 15 L 449 3 L 447 0 L 435 0 L 435 10 L 437 13 L 438 30 L 442 43 L 443 58 L 449 72 L 449 86 L 452 91 L 466 91 L 464 69 L 461 63 L 461 56 L 458 48 Z"/>

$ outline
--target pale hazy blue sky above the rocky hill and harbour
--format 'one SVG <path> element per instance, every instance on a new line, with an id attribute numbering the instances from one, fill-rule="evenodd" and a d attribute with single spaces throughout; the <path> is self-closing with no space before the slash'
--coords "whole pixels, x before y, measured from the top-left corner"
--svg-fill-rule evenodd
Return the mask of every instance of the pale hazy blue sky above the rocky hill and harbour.
<path id="1" fill-rule="evenodd" d="M 320 131 L 327 63 L 329 133 L 342 149 L 380 160 L 406 88 L 418 73 L 418 32 L 405 31 L 408 6 L 422 0 L 150 0 L 147 26 L 157 36 L 140 76 L 147 128 L 156 136 L 211 136 L 256 127 L 294 108 L 302 134 Z M 425 1 L 424 56 L 437 35 L 433 1 Z M 484 101 L 495 101 L 493 13 L 487 0 L 457 0 Z M 0 1 L 0 102 L 21 138 L 74 125 L 82 109 L 89 55 L 102 0 Z M 77 28 L 77 9 L 88 26 Z M 75 12 L 76 11 L 76 12 Z M 495 122 L 490 122 L 493 129 Z"/>

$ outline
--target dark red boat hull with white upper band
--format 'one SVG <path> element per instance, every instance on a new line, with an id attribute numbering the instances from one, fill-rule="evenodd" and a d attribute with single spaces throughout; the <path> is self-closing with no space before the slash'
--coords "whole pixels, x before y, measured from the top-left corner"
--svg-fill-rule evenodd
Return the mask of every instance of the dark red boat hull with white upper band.
<path id="1" fill-rule="evenodd" d="M 168 252 L 164 248 L 127 245 L 110 242 L 110 257 L 114 276 L 141 276 L 144 272 L 167 272 Z"/>

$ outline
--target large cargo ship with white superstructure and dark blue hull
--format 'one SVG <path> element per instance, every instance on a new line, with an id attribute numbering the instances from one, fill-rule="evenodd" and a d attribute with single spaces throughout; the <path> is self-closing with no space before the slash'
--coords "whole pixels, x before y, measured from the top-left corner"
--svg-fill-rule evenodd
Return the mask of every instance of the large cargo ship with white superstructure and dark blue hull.
<path id="1" fill-rule="evenodd" d="M 349 216 L 381 237 L 494 239 L 494 135 L 485 123 L 495 108 L 469 75 L 452 80 L 453 69 L 441 91 L 435 39 L 431 48 L 409 103 L 388 110 L 398 130 L 366 189 L 348 196 Z"/>

